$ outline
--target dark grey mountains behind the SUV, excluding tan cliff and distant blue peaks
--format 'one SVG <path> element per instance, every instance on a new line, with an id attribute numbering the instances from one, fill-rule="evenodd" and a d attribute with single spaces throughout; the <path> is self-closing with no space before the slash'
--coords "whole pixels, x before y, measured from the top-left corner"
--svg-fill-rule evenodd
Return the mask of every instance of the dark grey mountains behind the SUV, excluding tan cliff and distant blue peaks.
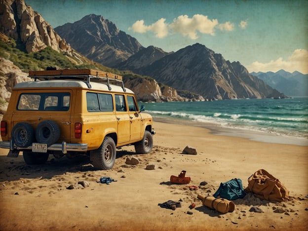
<path id="1" fill-rule="evenodd" d="M 153 77 L 165 85 L 192 91 L 205 99 L 285 97 L 250 75 L 239 62 L 226 61 L 221 54 L 202 44 L 196 43 L 170 53 L 154 46 L 144 48 L 136 39 L 118 31 L 111 21 L 94 14 L 57 27 L 55 31 L 90 59 L 119 70 Z M 105 50 L 111 46 L 121 54 L 117 60 L 114 53 Z M 130 56 L 125 59 L 124 54 L 128 53 Z"/>

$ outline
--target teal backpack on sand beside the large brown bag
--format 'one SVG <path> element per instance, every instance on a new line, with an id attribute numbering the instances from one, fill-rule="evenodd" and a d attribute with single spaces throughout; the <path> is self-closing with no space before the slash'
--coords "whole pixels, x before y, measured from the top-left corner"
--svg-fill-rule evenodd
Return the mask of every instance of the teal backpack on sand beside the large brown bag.
<path id="1" fill-rule="evenodd" d="M 215 198 L 220 196 L 228 200 L 243 198 L 245 195 L 246 192 L 243 190 L 242 180 L 236 178 L 220 183 L 218 190 L 213 194 Z"/>

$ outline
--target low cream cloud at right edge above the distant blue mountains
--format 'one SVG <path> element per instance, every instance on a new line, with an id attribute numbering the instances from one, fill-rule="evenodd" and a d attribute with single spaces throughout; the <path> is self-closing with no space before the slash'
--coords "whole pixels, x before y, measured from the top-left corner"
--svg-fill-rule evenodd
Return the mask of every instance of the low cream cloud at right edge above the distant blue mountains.
<path id="1" fill-rule="evenodd" d="M 269 63 L 253 62 L 246 66 L 249 72 L 277 72 L 281 69 L 287 72 L 299 71 L 303 74 L 308 74 L 308 50 L 296 49 L 288 60 L 283 60 L 281 57 L 277 60 L 271 60 Z"/>

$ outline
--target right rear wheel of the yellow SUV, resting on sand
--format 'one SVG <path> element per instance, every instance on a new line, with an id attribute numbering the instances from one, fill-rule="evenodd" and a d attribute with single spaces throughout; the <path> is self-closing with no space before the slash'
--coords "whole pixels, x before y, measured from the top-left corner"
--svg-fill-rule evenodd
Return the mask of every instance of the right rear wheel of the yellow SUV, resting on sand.
<path id="1" fill-rule="evenodd" d="M 98 149 L 91 151 L 90 160 L 96 169 L 111 169 L 116 162 L 115 141 L 111 137 L 106 136 L 102 145 Z"/>

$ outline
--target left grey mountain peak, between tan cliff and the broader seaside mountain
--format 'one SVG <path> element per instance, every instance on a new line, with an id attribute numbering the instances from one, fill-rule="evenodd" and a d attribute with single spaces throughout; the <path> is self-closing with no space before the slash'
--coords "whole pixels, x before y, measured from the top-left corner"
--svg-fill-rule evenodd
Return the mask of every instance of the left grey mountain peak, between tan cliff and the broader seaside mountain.
<path id="1" fill-rule="evenodd" d="M 90 14 L 55 28 L 71 46 L 95 62 L 114 67 L 143 48 L 137 39 L 119 31 L 103 16 Z"/>

